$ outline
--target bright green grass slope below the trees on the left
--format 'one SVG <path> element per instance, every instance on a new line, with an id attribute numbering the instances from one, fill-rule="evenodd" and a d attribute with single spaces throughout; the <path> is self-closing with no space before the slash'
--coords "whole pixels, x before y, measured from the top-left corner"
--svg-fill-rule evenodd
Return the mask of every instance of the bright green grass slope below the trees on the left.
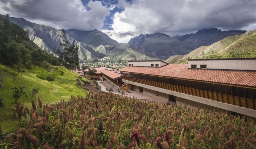
<path id="1" fill-rule="evenodd" d="M 31 107 L 32 97 L 29 92 L 37 87 L 39 87 L 39 96 L 44 104 L 60 101 L 61 99 L 69 100 L 71 95 L 85 96 L 87 94 L 82 87 L 76 85 L 77 74 L 68 71 L 65 67 L 47 66 L 47 68 L 36 66 L 32 70 L 22 69 L 25 70 L 25 73 L 21 76 L 16 68 L 0 65 L 0 77 L 4 78 L 4 88 L 0 88 L 0 97 L 4 104 L 3 107 L 0 107 L 0 126 L 2 125 L 4 133 L 14 132 L 16 126 L 19 125 L 18 118 L 17 116 L 13 117 L 11 109 L 15 104 L 12 87 L 26 86 L 28 97 L 22 95 L 19 100 L 20 105 L 24 104 L 27 107 Z M 52 70 L 51 73 L 49 73 L 50 70 Z M 49 74 L 55 76 L 55 80 L 52 82 L 53 89 L 51 89 L 51 83 L 46 81 L 46 76 Z M 15 83 L 13 82 L 14 77 Z M 83 78 L 83 80 L 87 79 Z M 37 96 L 33 99 L 37 104 Z"/>

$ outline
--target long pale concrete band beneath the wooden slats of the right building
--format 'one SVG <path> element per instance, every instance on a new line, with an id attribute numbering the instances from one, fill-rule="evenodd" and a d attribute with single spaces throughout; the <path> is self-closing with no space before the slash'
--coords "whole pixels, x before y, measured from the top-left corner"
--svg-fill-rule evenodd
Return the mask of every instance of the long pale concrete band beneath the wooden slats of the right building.
<path id="1" fill-rule="evenodd" d="M 196 96 L 192 96 L 192 95 L 188 95 L 188 94 L 183 94 L 183 93 L 180 93 L 180 92 L 175 92 L 175 91 L 170 91 L 170 90 L 167 90 L 167 89 L 162 89 L 162 88 L 159 88 L 159 87 L 154 87 L 154 86 L 149 86 L 149 85 L 145 85 L 145 84 L 141 84 L 141 83 L 128 81 L 128 80 L 125 80 L 125 79 L 123 79 L 123 82 L 133 84 L 133 85 L 136 85 L 136 86 L 144 87 L 144 91 L 145 91 L 145 88 L 146 88 L 146 89 L 151 89 L 153 91 L 159 91 L 159 94 L 160 94 L 160 92 L 162 92 L 162 93 L 165 93 L 165 94 L 170 94 L 170 95 L 176 96 L 176 99 L 177 99 L 177 97 L 187 99 L 187 100 L 190 100 L 191 102 L 195 102 L 195 105 L 196 104 L 204 104 L 205 106 L 209 105 L 209 106 L 216 107 L 216 108 L 219 108 L 219 109 L 224 109 L 224 110 L 227 110 L 227 111 L 233 111 L 233 112 L 236 112 L 236 113 L 240 113 L 240 114 L 243 114 L 243 115 L 248 115 L 250 117 L 256 118 L 256 110 L 253 110 L 253 109 L 246 109 L 245 107 L 239 107 L 239 106 L 236 106 L 236 105 L 217 102 L 217 101 L 210 100 L 210 99 L 205 99 L 205 98 L 202 98 L 202 97 L 196 97 Z M 152 97 L 156 97 L 155 94 Z"/>

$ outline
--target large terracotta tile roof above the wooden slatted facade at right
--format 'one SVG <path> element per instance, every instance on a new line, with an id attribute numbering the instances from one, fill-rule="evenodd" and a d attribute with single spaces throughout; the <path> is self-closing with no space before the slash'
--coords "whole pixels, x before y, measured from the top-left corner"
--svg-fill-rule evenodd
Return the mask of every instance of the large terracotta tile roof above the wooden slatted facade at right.
<path id="1" fill-rule="evenodd" d="M 187 64 L 160 68 L 127 66 L 118 71 L 256 87 L 256 72 L 253 71 L 188 69 Z"/>

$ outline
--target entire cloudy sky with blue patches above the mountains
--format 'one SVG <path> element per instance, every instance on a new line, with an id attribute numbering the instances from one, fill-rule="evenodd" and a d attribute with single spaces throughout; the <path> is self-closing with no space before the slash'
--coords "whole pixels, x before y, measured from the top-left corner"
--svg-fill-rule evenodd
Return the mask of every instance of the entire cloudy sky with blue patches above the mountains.
<path id="1" fill-rule="evenodd" d="M 256 29 L 256 0 L 0 0 L 0 14 L 57 29 L 98 29 L 127 43 L 139 34 Z"/>

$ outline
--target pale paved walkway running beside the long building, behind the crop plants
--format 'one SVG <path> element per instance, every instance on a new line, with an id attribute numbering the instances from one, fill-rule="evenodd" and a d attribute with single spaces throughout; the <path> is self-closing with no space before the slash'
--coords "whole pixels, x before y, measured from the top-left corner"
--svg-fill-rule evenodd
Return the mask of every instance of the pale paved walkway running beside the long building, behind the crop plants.
<path id="1" fill-rule="evenodd" d="M 118 95 L 122 95 L 121 94 L 121 91 L 118 92 L 118 89 L 113 87 L 108 81 L 97 81 L 99 86 L 101 87 L 101 90 L 104 91 L 104 92 L 109 92 L 107 91 L 107 89 L 109 89 L 110 87 L 113 88 L 113 94 L 118 94 Z M 152 96 L 148 96 L 146 94 L 143 94 L 141 92 L 136 92 L 136 91 L 132 91 L 130 90 L 130 93 L 125 93 L 125 96 L 127 97 L 131 97 L 131 98 L 137 98 L 137 99 L 140 99 L 140 100 L 146 100 L 146 101 L 156 101 L 156 102 L 163 102 L 163 103 L 167 103 L 166 100 L 162 100 L 162 99 L 157 99 L 157 98 L 154 98 Z"/>

